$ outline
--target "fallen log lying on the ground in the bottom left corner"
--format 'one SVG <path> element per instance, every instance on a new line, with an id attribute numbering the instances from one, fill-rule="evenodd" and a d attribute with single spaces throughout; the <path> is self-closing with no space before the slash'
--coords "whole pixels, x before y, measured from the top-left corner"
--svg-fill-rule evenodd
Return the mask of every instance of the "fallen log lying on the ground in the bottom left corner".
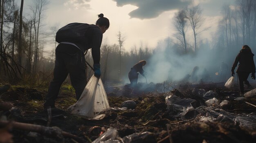
<path id="1" fill-rule="evenodd" d="M 23 131 L 30 131 L 30 132 L 38 132 L 40 134 L 51 136 L 51 137 L 58 137 L 59 139 L 66 137 L 74 139 L 75 141 L 79 143 L 84 143 L 81 138 L 74 134 L 70 134 L 68 132 L 65 132 L 61 130 L 58 127 L 45 127 L 43 125 L 34 125 L 30 123 L 20 123 L 16 121 L 0 121 L 0 126 L 4 127 L 8 124 L 11 124 L 14 129 L 17 130 L 23 130 Z"/>

